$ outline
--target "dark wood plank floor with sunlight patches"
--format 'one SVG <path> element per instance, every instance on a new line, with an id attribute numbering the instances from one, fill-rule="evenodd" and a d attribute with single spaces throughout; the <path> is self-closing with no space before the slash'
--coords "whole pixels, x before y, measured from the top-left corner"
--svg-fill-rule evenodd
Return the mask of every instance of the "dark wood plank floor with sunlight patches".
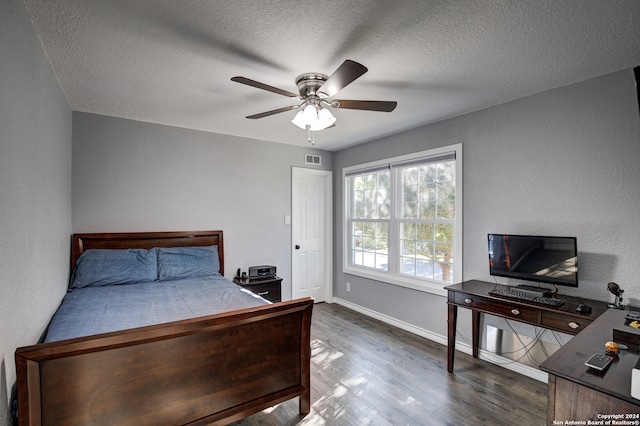
<path id="1" fill-rule="evenodd" d="M 546 384 L 336 304 L 314 307 L 311 413 L 298 398 L 236 425 L 544 425 Z"/>

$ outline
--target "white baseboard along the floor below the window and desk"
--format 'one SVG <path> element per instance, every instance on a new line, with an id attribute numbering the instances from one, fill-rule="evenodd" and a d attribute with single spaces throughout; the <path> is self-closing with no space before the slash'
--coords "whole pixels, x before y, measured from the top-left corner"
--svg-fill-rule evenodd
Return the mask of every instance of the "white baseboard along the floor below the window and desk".
<path id="1" fill-rule="evenodd" d="M 366 315 L 371 318 L 375 318 L 379 321 L 382 321 L 386 324 L 392 325 L 394 327 L 398 327 L 402 330 L 408 331 L 409 333 L 413 333 L 420 337 L 424 337 L 425 339 L 432 340 L 436 343 L 440 343 L 441 345 L 447 345 L 447 337 L 442 336 L 437 333 L 433 333 L 429 330 L 425 330 L 420 327 L 416 327 L 413 324 L 409 324 L 407 322 L 401 321 L 399 319 L 390 317 L 385 314 L 381 314 L 380 312 L 376 312 L 369 308 L 362 307 L 360 305 L 356 305 L 344 299 L 340 299 L 334 297 L 331 303 L 337 303 L 338 305 L 344 306 L 345 308 L 349 308 L 353 311 L 359 312 L 363 315 Z M 465 342 L 456 341 L 456 350 L 460 352 L 464 352 L 468 355 L 473 353 L 471 345 Z M 507 370 L 514 371 L 516 373 L 522 374 L 523 376 L 530 377 L 532 379 L 538 380 L 543 383 L 548 382 L 548 375 L 542 370 L 537 368 L 530 367 L 528 365 L 520 364 L 519 362 L 512 361 L 508 358 L 502 357 L 500 355 L 496 355 L 493 352 L 485 351 L 480 349 L 478 357 L 483 360 L 490 362 L 492 364 L 498 365 L 500 367 L 506 368 Z"/>

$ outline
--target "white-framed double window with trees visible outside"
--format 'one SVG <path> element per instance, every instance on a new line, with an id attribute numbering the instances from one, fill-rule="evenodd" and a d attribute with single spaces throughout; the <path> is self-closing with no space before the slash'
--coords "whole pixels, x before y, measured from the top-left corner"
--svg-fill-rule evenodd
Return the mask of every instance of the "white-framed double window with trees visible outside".
<path id="1" fill-rule="evenodd" d="M 438 293 L 460 281 L 461 155 L 458 144 L 345 168 L 344 272 Z"/>

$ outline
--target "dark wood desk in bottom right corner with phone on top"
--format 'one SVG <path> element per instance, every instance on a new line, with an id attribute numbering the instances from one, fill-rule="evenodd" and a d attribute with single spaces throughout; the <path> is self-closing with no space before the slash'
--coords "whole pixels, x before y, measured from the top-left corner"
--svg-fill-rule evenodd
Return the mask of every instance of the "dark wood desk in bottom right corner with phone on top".
<path id="1" fill-rule="evenodd" d="M 604 372 L 584 365 L 595 352 L 604 353 L 604 344 L 612 340 L 614 328 L 627 327 L 625 314 L 623 310 L 609 309 L 587 332 L 571 339 L 540 365 L 542 371 L 549 373 L 547 424 L 555 424 L 554 420 L 587 424 L 588 420 L 601 421 L 603 418 L 598 415 L 607 414 L 619 415 L 619 421 L 640 420 L 640 401 L 631 396 L 631 369 L 640 358 L 637 350 L 620 351 Z"/>

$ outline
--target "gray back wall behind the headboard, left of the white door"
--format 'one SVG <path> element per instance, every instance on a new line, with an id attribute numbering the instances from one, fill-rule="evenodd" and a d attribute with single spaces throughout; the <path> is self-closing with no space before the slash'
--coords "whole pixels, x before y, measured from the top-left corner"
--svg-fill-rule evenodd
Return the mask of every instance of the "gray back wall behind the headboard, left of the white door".
<path id="1" fill-rule="evenodd" d="M 332 153 L 73 113 L 73 231 L 224 231 L 225 276 L 276 265 L 291 296 L 291 168 Z"/>

